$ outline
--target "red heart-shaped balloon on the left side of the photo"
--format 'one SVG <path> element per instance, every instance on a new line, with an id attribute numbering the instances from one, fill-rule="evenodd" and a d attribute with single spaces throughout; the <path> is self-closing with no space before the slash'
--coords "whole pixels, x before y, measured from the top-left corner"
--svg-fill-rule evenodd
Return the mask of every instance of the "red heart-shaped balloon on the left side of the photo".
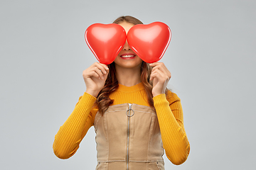
<path id="1" fill-rule="evenodd" d="M 97 60 L 103 64 L 114 62 L 122 50 L 127 35 L 116 23 L 95 23 L 85 30 L 85 41 Z"/>

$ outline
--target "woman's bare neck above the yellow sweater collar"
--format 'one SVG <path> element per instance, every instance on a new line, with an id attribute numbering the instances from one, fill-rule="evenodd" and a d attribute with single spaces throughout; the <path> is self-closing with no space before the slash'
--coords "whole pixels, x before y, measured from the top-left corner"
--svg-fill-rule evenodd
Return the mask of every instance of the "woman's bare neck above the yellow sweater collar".
<path id="1" fill-rule="evenodd" d="M 119 84 L 124 86 L 134 86 L 139 84 L 141 81 L 140 65 L 137 68 L 123 68 L 118 67 L 116 64 L 117 80 Z"/>

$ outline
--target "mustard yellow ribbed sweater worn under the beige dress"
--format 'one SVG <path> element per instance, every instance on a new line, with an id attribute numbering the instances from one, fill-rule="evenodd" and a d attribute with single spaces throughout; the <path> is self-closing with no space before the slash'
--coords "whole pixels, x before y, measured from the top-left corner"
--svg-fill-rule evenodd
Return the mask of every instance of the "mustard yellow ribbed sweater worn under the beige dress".
<path id="1" fill-rule="evenodd" d="M 117 91 L 110 94 L 110 98 L 114 99 L 112 105 L 136 103 L 149 106 L 142 83 L 130 87 L 119 84 Z M 94 96 L 83 94 L 73 113 L 55 135 L 53 151 L 60 159 L 68 159 L 75 154 L 82 138 L 93 125 L 97 113 L 97 106 L 94 106 L 95 100 Z M 183 126 L 180 98 L 169 91 L 167 96 L 160 94 L 153 100 L 166 156 L 173 164 L 182 164 L 188 157 L 190 145 Z"/>

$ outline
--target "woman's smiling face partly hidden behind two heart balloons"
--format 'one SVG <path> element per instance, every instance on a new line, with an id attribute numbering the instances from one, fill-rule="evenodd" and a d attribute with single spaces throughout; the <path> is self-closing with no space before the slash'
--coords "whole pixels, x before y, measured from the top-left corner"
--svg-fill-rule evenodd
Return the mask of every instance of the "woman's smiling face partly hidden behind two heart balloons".
<path id="1" fill-rule="evenodd" d="M 124 28 L 126 33 L 128 33 L 129 29 L 134 26 L 133 23 L 122 22 L 119 23 L 120 26 Z M 140 67 L 142 64 L 142 60 L 132 51 L 131 47 L 129 47 L 127 41 L 124 44 L 124 47 L 117 55 L 116 59 L 114 60 L 116 67 L 124 67 L 124 68 L 134 68 Z"/>

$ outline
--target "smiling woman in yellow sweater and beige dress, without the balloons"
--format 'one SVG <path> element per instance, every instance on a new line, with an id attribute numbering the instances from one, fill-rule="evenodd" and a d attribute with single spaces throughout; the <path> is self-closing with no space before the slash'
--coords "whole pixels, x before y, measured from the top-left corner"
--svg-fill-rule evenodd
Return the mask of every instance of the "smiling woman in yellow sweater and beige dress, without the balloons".
<path id="1" fill-rule="evenodd" d="M 132 16 L 114 23 L 126 32 L 143 24 Z M 55 135 L 57 157 L 73 156 L 93 125 L 96 169 L 164 169 L 164 150 L 173 164 L 186 161 L 190 145 L 181 101 L 166 89 L 171 73 L 164 63 L 142 61 L 125 42 L 112 64 L 95 62 L 82 76 L 86 91 Z"/>

